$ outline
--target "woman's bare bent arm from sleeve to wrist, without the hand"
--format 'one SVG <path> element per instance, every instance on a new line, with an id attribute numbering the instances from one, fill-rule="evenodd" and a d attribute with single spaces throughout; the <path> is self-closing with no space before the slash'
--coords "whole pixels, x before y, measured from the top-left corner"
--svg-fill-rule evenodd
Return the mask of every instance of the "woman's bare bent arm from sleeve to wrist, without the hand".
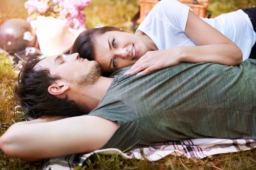
<path id="1" fill-rule="evenodd" d="M 234 42 L 192 11 L 189 11 L 185 33 L 197 46 L 181 49 L 181 62 L 218 62 L 236 66 L 243 60 L 242 51 Z"/>

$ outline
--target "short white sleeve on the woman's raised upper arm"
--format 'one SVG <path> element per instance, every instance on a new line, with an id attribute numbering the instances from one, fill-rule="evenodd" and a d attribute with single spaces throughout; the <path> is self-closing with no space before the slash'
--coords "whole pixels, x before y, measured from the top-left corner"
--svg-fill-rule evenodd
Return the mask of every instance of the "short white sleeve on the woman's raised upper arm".
<path id="1" fill-rule="evenodd" d="M 166 22 L 170 22 L 175 27 L 185 31 L 190 7 L 177 0 L 161 0 L 157 5 L 159 7 L 156 9 L 156 12 L 161 13 L 162 10 L 162 13 L 165 13 L 168 18 Z"/>

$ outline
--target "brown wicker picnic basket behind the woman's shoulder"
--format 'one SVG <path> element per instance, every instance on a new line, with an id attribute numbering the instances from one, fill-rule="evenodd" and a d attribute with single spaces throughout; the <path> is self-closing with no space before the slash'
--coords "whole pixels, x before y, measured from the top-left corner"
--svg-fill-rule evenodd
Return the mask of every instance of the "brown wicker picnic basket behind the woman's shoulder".
<path id="1" fill-rule="evenodd" d="M 183 4 L 193 9 L 193 12 L 200 17 L 206 16 L 206 10 L 209 5 L 209 0 L 178 0 Z M 139 0 L 139 19 L 137 24 L 140 24 L 145 17 L 145 11 L 150 11 L 159 0 Z"/>

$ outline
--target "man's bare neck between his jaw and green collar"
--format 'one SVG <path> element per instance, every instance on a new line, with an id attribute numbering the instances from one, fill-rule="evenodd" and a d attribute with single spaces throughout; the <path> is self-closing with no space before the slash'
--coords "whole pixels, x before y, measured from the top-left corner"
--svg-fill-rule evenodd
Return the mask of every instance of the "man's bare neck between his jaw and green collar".
<path id="1" fill-rule="evenodd" d="M 84 112 L 89 113 L 99 105 L 111 83 L 112 78 L 100 77 L 94 85 L 70 87 L 72 95 L 68 94 L 69 99 L 74 100 Z"/>

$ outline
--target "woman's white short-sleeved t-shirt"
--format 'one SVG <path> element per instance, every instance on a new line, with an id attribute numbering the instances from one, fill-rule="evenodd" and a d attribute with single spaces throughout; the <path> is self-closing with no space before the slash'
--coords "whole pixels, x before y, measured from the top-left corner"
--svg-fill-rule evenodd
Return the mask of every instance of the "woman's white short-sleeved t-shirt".
<path id="1" fill-rule="evenodd" d="M 157 48 L 171 49 L 176 46 L 196 46 L 185 34 L 189 7 L 177 0 L 161 0 L 148 13 L 137 30 L 148 35 Z M 240 47 L 243 60 L 249 55 L 256 42 L 252 22 L 243 10 L 202 18 Z"/>

